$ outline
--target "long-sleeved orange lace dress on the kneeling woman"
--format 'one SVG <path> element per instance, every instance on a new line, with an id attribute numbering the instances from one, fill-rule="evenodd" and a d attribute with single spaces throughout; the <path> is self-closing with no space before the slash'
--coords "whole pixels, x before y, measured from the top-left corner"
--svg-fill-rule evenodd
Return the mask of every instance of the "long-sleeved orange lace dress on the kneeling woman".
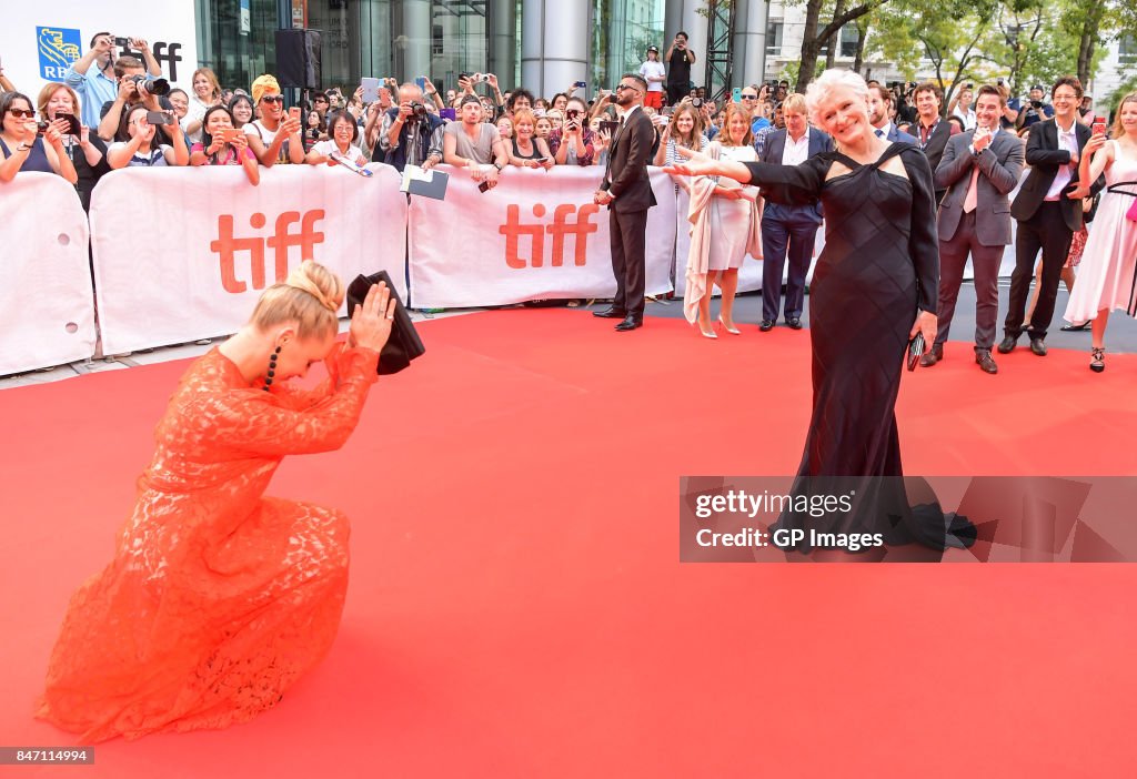
<path id="1" fill-rule="evenodd" d="M 348 520 L 263 494 L 285 454 L 347 441 L 377 358 L 338 344 L 312 391 L 250 387 L 216 349 L 193 363 L 114 561 L 72 597 L 39 718 L 84 743 L 223 728 L 275 705 L 324 656 Z"/>

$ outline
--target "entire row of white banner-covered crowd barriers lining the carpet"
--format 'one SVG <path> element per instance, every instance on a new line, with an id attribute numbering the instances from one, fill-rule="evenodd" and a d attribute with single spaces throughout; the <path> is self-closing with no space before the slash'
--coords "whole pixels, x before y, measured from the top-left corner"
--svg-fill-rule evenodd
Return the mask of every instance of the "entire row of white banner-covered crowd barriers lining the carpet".
<path id="1" fill-rule="evenodd" d="M 227 335 L 302 257 L 346 280 L 384 269 L 414 308 L 615 292 L 607 209 L 592 204 L 600 167 L 511 168 L 483 193 L 465 170 L 440 166 L 450 174 L 446 200 L 409 206 L 392 168 L 368 167 L 371 178 L 274 166 L 259 186 L 235 167 L 127 168 L 96 187 L 90 223 L 60 178 L 20 174 L 0 187 L 9 216 L 0 245 L 15 271 L 0 290 L 0 375 L 92 357 L 96 303 L 106 354 Z M 661 169 L 650 177 L 658 206 L 648 216 L 646 292 L 682 296 L 687 195 Z M 10 218 L 20 213 L 50 213 L 55 228 Z M 1001 275 L 1013 267 L 1012 244 Z M 739 290 L 761 282 L 762 261 L 748 259 Z"/>

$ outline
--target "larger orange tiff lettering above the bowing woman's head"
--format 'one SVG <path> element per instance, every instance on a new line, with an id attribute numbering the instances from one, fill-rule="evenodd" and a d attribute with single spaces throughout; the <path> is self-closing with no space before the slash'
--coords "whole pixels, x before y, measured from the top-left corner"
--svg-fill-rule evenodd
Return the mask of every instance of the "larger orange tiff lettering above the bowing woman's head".
<path id="1" fill-rule="evenodd" d="M 275 232 L 267 240 L 259 235 L 235 237 L 233 235 L 233 216 L 223 213 L 217 217 L 217 238 L 209 244 L 209 251 L 221 258 L 221 283 L 225 292 L 234 294 L 244 292 L 248 286 L 236 278 L 236 252 L 249 252 L 249 266 L 254 290 L 265 288 L 265 248 L 273 250 L 275 283 L 288 278 L 289 246 L 300 246 L 300 257 L 313 257 L 313 248 L 324 242 L 324 234 L 316 232 L 316 223 L 324 218 L 323 209 L 306 211 L 301 218 L 299 211 L 284 211 L 276 217 Z M 299 223 L 300 232 L 291 232 L 291 226 Z M 265 215 L 254 213 L 249 225 L 255 229 L 265 226 Z"/>

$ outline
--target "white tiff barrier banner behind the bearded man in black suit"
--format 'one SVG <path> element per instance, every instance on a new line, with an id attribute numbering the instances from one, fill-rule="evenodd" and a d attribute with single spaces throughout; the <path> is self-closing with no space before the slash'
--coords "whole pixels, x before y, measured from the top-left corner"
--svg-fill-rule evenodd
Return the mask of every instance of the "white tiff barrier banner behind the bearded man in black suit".
<path id="1" fill-rule="evenodd" d="M 505 305 L 526 300 L 611 298 L 616 292 L 608 210 L 592 203 L 604 168 L 511 167 L 480 192 L 450 174 L 446 200 L 412 198 L 409 261 L 415 308 Z M 671 178 L 652 169 L 658 206 L 648 211 L 646 294 L 670 292 L 675 251 Z"/>

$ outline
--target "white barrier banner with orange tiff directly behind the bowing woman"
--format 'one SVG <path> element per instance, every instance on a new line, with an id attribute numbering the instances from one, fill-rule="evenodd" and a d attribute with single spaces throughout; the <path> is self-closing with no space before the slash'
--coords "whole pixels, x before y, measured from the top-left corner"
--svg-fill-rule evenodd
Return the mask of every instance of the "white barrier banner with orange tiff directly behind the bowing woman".
<path id="1" fill-rule="evenodd" d="M 387 270 L 406 294 L 406 195 L 385 165 L 125 168 L 99 182 L 91 235 L 103 352 L 234 333 L 304 259 L 343 279 Z M 343 309 L 341 309 L 341 313 Z"/>

